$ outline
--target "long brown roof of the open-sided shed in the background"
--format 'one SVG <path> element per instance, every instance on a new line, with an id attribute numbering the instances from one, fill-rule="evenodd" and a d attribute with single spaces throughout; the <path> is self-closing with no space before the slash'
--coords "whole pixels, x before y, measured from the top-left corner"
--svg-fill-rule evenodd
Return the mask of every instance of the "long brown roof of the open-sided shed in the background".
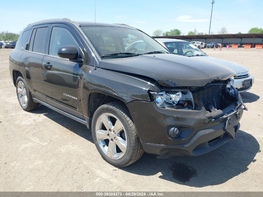
<path id="1" fill-rule="evenodd" d="M 153 38 L 173 38 L 173 39 L 213 39 L 213 38 L 263 38 L 262 34 L 216 34 L 216 35 L 172 35 L 153 36 Z"/>

